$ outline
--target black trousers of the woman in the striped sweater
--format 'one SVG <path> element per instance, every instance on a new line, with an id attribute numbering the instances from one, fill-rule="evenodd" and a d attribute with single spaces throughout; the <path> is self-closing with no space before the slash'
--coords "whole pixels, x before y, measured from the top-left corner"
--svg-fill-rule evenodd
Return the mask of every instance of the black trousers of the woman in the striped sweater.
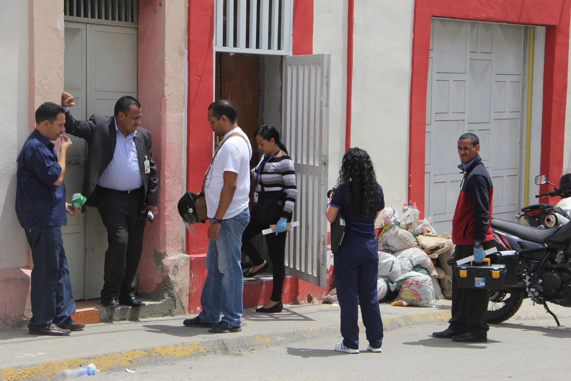
<path id="1" fill-rule="evenodd" d="M 278 215 L 282 215 L 283 206 L 278 207 Z M 281 217 L 280 217 L 281 218 Z M 260 234 L 262 230 L 270 228 L 270 225 L 264 225 L 256 219 L 256 206 L 252 208 L 250 213 L 250 223 L 246 226 L 246 230 L 242 233 L 242 252 L 252 259 L 254 266 L 260 266 L 264 263 L 264 258 L 250 239 Z M 274 286 L 272 288 L 272 296 L 270 300 L 274 302 L 282 301 L 282 292 L 284 288 L 284 279 L 286 279 L 286 238 L 287 231 L 281 232 L 278 235 L 270 233 L 264 235 L 266 244 L 268 245 L 268 256 L 272 261 L 272 273 L 274 275 Z"/>

